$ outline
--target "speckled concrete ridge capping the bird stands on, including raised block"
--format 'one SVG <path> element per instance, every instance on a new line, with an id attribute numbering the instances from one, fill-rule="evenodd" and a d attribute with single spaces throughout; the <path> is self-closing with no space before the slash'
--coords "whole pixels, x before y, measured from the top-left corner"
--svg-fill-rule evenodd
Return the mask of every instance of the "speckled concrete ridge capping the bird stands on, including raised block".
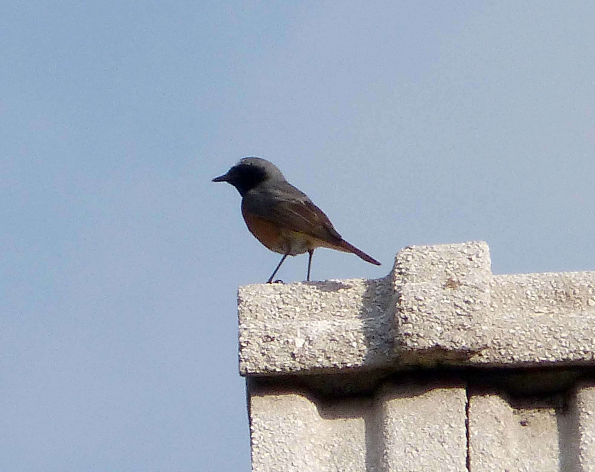
<path id="1" fill-rule="evenodd" d="M 493 276 L 486 243 L 412 246 L 377 280 L 249 285 L 240 373 L 593 364 L 595 273 Z"/>

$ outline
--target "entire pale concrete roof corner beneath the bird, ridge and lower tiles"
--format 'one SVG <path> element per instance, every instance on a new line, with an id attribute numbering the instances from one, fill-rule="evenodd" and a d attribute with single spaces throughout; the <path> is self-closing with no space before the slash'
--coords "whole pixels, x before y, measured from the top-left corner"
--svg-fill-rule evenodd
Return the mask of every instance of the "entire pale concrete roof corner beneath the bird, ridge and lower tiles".
<path id="1" fill-rule="evenodd" d="M 238 307 L 254 472 L 595 472 L 593 272 L 414 246 L 381 279 L 250 285 Z"/>

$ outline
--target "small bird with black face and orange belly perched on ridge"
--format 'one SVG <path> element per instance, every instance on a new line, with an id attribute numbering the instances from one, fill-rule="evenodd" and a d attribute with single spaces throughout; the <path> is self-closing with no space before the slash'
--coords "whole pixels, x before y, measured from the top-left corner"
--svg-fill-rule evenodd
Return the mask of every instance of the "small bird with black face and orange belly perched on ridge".
<path id="1" fill-rule="evenodd" d="M 242 196 L 242 215 L 252 235 L 271 251 L 283 254 L 267 283 L 273 282 L 287 256 L 305 252 L 309 255 L 309 281 L 312 255 L 317 248 L 352 252 L 366 262 L 380 265 L 343 239 L 327 215 L 308 195 L 287 182 L 273 162 L 245 157 L 212 182 L 227 182 L 236 187 Z"/>

